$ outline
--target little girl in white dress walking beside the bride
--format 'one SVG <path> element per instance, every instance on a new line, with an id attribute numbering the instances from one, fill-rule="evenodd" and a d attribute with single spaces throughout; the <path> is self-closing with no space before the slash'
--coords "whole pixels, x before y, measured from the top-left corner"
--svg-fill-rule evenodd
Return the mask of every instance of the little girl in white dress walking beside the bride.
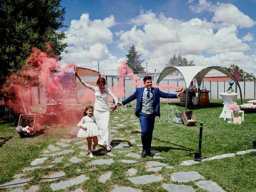
<path id="1" fill-rule="evenodd" d="M 96 145 L 98 144 L 98 135 L 99 135 L 99 128 L 98 125 L 95 123 L 95 118 L 93 116 L 93 106 L 87 106 L 84 110 L 84 117 L 82 120 L 77 124 L 80 127 L 78 131 L 77 137 L 85 138 L 88 142 L 88 150 L 89 150 L 89 157 L 92 158 L 93 154 L 92 151 L 96 151 Z M 92 146 L 92 140 L 94 142 Z M 91 147 L 92 146 L 92 147 Z"/>

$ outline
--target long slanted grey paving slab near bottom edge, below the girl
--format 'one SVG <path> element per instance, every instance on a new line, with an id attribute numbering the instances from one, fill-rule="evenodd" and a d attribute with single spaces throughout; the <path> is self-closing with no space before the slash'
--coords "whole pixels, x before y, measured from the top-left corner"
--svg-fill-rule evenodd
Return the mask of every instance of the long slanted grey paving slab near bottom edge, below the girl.
<path id="1" fill-rule="evenodd" d="M 70 187 L 70 186 L 73 186 L 76 184 L 80 184 L 87 179 L 89 179 L 89 178 L 86 177 L 85 175 L 80 175 L 71 180 L 61 181 L 58 183 L 52 183 L 51 188 L 52 188 L 52 190 L 56 191 L 56 190 L 64 189 L 64 188 L 67 188 L 67 187 Z"/>

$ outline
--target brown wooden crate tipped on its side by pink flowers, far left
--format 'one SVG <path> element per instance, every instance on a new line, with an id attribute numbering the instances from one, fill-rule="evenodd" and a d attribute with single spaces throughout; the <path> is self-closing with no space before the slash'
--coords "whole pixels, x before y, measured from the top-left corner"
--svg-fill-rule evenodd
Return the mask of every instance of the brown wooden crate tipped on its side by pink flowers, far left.
<path id="1" fill-rule="evenodd" d="M 30 133 L 27 133 L 27 132 L 19 133 L 20 137 L 35 136 L 36 135 L 35 120 L 36 120 L 36 115 L 20 115 L 18 126 L 22 126 L 22 127 L 29 126 L 29 127 L 32 127 L 32 131 Z"/>

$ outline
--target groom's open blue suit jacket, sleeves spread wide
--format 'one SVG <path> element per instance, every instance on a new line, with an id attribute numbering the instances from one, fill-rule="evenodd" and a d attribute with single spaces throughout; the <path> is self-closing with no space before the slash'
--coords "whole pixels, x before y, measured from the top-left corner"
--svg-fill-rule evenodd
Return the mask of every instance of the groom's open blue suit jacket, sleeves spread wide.
<path id="1" fill-rule="evenodd" d="M 136 110 L 135 115 L 139 117 L 139 112 L 141 112 L 142 109 L 142 96 L 144 92 L 145 87 L 137 88 L 134 94 L 132 94 L 130 97 L 128 97 L 126 100 L 122 101 L 122 104 L 125 105 L 127 103 L 130 103 L 133 100 L 137 100 L 136 104 Z M 178 98 L 177 94 L 171 94 L 171 93 L 164 93 L 159 90 L 159 88 L 151 88 L 151 92 L 153 94 L 153 107 L 156 113 L 156 116 L 160 117 L 160 97 L 162 98 Z"/>

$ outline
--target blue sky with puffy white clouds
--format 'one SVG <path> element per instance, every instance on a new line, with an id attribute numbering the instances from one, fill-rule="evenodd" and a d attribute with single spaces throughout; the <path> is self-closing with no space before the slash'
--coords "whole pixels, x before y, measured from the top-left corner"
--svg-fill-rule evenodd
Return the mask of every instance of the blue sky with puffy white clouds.
<path id="1" fill-rule="evenodd" d="M 172 55 L 196 65 L 238 65 L 256 74 L 256 0 L 62 0 L 68 54 L 62 62 L 110 75 L 136 45 L 161 72 Z"/>

